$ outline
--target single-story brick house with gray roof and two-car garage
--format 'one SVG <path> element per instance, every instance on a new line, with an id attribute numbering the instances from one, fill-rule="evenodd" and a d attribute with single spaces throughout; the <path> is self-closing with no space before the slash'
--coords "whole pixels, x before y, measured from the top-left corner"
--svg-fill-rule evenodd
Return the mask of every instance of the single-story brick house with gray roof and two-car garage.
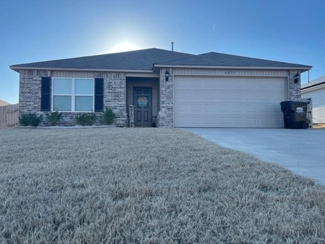
<path id="1" fill-rule="evenodd" d="M 111 107 L 128 126 L 135 105 L 135 126 L 282 128 L 279 103 L 301 99 L 300 73 L 311 66 L 150 48 L 10 68 L 20 113 L 62 111 L 62 125 Z"/>

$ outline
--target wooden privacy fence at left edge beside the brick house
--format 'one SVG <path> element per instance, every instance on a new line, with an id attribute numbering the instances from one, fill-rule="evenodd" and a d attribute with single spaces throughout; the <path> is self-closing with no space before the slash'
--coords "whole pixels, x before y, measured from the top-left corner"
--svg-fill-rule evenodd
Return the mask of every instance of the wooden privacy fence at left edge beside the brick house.
<path id="1" fill-rule="evenodd" d="M 0 106 L 0 129 L 18 126 L 18 104 Z"/>

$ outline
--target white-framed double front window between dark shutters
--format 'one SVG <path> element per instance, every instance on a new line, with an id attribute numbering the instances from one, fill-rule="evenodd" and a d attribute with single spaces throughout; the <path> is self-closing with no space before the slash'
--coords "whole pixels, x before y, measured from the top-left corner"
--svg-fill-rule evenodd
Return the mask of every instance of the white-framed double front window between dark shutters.
<path id="1" fill-rule="evenodd" d="M 93 111 L 94 79 L 53 78 L 52 111 Z"/>

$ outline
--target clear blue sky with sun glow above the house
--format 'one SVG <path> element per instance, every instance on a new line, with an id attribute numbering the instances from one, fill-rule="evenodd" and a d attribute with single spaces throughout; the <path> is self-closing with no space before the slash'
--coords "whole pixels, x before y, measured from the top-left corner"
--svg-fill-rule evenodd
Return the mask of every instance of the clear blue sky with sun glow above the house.
<path id="1" fill-rule="evenodd" d="M 19 75 L 9 65 L 130 44 L 170 49 L 171 41 L 180 52 L 311 65 L 312 80 L 325 74 L 324 9 L 324 1 L 312 0 L 0 1 L 0 99 L 18 102 Z"/>

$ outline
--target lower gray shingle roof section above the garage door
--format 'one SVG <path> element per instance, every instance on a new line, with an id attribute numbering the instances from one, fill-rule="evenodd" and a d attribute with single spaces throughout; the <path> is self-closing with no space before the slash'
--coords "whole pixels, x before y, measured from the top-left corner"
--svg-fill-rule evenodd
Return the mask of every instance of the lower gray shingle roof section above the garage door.
<path id="1" fill-rule="evenodd" d="M 164 63 L 168 65 L 201 65 L 201 66 L 242 66 L 242 67 L 299 67 L 311 68 L 311 66 L 277 62 L 266 59 L 243 57 L 218 52 L 208 52 L 174 60 Z"/>

